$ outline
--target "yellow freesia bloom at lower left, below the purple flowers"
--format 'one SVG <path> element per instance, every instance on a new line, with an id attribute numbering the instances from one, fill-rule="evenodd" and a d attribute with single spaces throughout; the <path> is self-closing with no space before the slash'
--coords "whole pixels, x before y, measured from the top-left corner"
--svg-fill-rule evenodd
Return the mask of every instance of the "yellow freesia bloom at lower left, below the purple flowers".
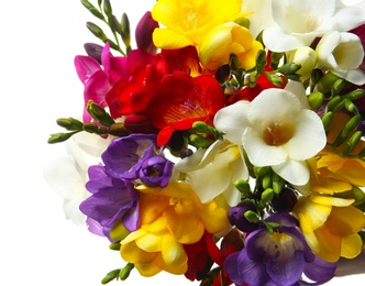
<path id="1" fill-rule="evenodd" d="M 161 271 L 186 273 L 184 244 L 198 242 L 204 231 L 217 233 L 229 226 L 226 210 L 213 200 L 201 204 L 185 183 L 172 183 L 166 188 L 144 185 L 136 188 L 141 191 L 141 227 L 121 241 L 120 253 L 143 276 Z"/>

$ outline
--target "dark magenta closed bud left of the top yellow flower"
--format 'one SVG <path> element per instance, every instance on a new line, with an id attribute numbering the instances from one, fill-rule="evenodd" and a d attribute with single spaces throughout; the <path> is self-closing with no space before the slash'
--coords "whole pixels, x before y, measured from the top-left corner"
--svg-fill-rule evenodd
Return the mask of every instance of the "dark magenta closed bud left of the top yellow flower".
<path id="1" fill-rule="evenodd" d="M 152 33 L 158 23 L 152 19 L 151 11 L 145 12 L 135 28 L 135 42 L 137 48 L 156 54 L 157 47 L 152 41 Z"/>

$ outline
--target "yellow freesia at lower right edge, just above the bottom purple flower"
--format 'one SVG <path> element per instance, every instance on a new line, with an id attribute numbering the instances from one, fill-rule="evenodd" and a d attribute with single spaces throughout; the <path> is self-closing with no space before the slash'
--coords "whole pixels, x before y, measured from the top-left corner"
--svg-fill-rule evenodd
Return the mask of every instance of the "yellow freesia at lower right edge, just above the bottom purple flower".
<path id="1" fill-rule="evenodd" d="M 357 232 L 365 227 L 365 215 L 351 206 L 353 202 L 353 199 L 313 195 L 301 197 L 294 208 L 308 245 L 324 261 L 353 258 L 362 251 Z"/>

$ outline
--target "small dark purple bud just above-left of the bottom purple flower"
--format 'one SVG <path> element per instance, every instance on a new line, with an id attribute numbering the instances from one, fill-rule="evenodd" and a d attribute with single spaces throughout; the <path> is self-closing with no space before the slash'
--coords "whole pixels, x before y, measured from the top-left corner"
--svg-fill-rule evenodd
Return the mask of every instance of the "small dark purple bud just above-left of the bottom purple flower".
<path id="1" fill-rule="evenodd" d="M 232 207 L 229 211 L 230 223 L 243 232 L 252 232 L 256 230 L 258 223 L 250 221 L 245 216 L 248 211 L 256 213 L 256 207 L 251 201 L 241 201 L 237 206 Z"/>

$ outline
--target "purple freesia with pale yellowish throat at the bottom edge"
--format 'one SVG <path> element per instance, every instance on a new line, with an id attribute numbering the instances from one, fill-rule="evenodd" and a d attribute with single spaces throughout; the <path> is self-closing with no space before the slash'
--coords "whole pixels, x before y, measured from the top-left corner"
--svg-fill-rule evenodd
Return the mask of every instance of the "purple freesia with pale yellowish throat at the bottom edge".
<path id="1" fill-rule="evenodd" d="M 245 248 L 231 254 L 224 268 L 236 285 L 299 285 L 302 274 L 314 285 L 334 276 L 336 263 L 317 257 L 309 249 L 296 218 L 287 212 L 269 216 L 266 222 L 277 222 L 273 233 L 266 227 L 251 232 Z"/>

